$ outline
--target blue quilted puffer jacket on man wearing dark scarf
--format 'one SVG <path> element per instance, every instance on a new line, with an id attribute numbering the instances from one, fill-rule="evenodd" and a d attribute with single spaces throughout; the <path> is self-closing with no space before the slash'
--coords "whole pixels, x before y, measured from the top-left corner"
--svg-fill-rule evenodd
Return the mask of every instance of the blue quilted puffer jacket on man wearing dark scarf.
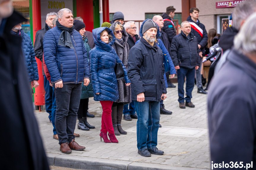
<path id="1" fill-rule="evenodd" d="M 51 82 L 82 83 L 90 77 L 87 51 L 82 36 L 76 30 L 71 31 L 70 38 L 74 48 L 58 45 L 61 30 L 53 27 L 44 35 L 44 61 L 51 75 Z"/>

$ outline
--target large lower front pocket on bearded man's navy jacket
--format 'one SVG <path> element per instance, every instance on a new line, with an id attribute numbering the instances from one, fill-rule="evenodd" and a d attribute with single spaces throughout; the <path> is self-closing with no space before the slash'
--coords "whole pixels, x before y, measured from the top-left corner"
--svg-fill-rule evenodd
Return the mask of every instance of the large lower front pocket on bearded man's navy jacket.
<path id="1" fill-rule="evenodd" d="M 156 98 L 156 79 L 145 79 L 142 80 L 142 85 L 145 90 L 145 98 L 146 97 L 154 97 Z"/>

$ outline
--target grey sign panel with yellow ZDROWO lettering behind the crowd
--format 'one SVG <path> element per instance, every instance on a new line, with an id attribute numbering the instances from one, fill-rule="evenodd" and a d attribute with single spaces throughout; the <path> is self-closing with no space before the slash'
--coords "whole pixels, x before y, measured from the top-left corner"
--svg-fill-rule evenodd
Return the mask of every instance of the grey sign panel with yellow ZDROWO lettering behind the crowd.
<path id="1" fill-rule="evenodd" d="M 61 0 L 61 1 L 49 1 L 41 0 L 41 25 L 45 26 L 46 15 L 50 12 L 58 12 L 60 9 L 68 8 L 73 12 L 73 1 Z"/>

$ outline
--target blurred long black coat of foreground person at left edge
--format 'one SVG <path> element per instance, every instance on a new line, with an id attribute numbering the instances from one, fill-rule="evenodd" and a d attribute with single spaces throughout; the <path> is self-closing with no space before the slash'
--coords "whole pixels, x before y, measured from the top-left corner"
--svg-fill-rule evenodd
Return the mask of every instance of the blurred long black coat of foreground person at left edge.
<path id="1" fill-rule="evenodd" d="M 32 91 L 21 48 L 22 39 L 12 27 L 25 21 L 20 14 L 2 20 L 0 28 L 0 135 L 1 169 L 49 169 L 32 108 Z M 5 24 L 5 25 L 4 25 Z"/>

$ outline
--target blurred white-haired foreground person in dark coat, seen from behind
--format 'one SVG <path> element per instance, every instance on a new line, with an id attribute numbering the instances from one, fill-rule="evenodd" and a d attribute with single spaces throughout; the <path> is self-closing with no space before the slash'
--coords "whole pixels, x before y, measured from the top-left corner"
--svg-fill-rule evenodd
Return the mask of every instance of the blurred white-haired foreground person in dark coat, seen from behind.
<path id="1" fill-rule="evenodd" d="M 238 162 L 243 168 L 247 164 L 246 169 L 256 166 L 255 30 L 256 13 L 253 13 L 235 36 L 234 48 L 221 74 L 215 75 L 209 87 L 209 140 L 212 165 L 216 169 L 226 169 L 218 166 L 223 161 Z"/>

